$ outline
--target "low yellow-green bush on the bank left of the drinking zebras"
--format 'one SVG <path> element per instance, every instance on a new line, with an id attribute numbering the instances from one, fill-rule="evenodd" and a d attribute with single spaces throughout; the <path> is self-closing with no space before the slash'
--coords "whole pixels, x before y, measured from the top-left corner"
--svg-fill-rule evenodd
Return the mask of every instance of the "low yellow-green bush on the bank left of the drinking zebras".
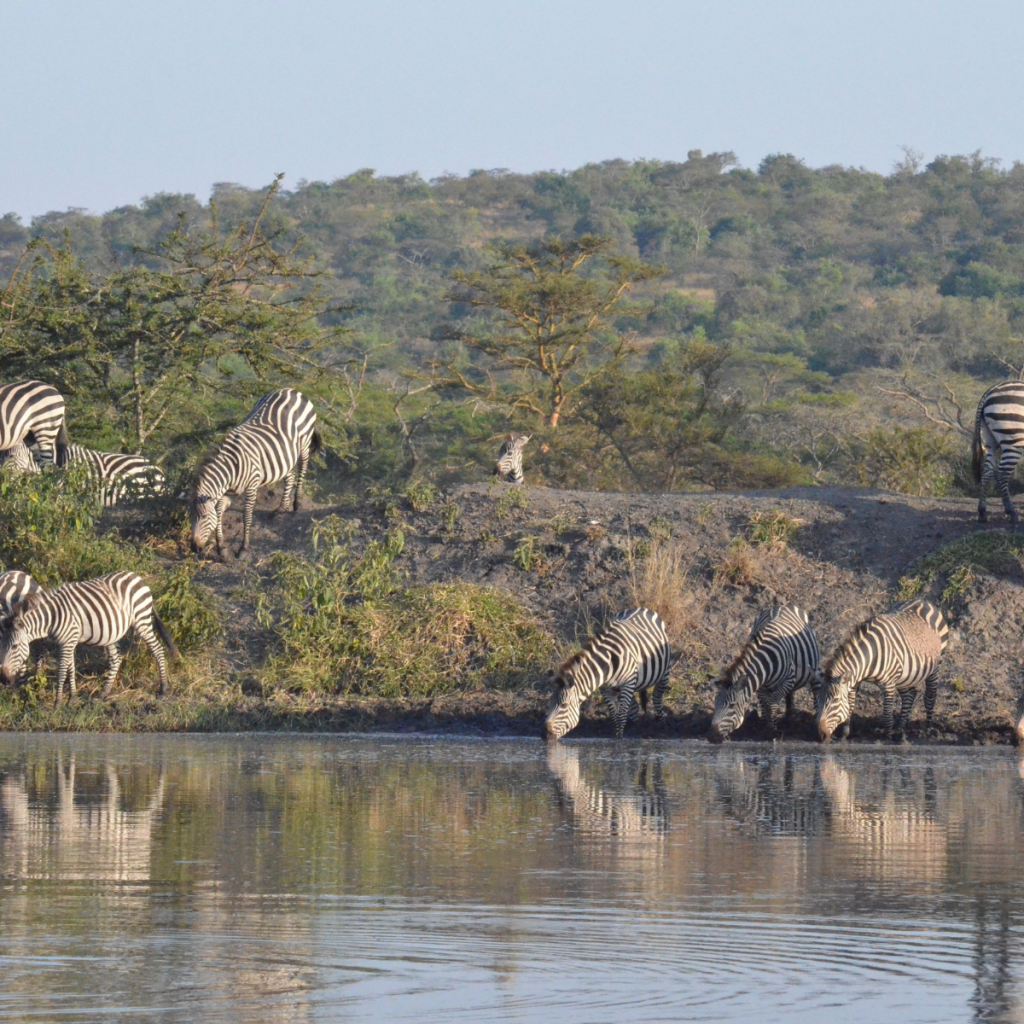
<path id="1" fill-rule="evenodd" d="M 382 697 L 457 689 L 514 689 L 548 667 L 553 644 L 511 595 L 469 584 L 400 586 L 402 535 L 361 552 L 336 517 L 308 556 L 279 552 L 251 581 L 274 648 L 264 687 Z"/>

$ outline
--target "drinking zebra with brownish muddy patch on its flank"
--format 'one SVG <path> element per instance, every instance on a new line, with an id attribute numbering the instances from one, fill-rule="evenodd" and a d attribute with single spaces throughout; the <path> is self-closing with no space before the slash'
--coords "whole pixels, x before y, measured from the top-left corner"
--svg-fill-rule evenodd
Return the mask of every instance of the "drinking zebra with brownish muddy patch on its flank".
<path id="1" fill-rule="evenodd" d="M 938 692 L 939 658 L 948 635 L 942 612 L 930 601 L 910 601 L 861 623 L 825 663 L 816 702 L 821 740 L 827 742 L 840 725 L 844 738 L 849 735 L 857 689 L 864 680 L 882 687 L 885 728 L 893 737 L 906 735 L 922 680 L 930 722 Z M 900 711 L 894 716 L 897 694 Z"/>

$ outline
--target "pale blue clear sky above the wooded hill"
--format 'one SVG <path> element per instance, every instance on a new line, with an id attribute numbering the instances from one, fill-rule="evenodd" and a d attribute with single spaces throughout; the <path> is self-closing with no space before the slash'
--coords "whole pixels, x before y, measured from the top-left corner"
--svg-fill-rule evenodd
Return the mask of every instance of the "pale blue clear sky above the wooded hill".
<path id="1" fill-rule="evenodd" d="M 1019 0 L 0 0 L 0 214 L 733 151 L 1024 160 Z"/>

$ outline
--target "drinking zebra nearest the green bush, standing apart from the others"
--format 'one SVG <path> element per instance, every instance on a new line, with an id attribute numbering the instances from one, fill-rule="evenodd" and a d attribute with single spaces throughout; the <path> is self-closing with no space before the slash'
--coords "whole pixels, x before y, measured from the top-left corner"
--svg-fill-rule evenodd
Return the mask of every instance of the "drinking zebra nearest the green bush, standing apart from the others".
<path id="1" fill-rule="evenodd" d="M 584 700 L 601 686 L 615 695 L 615 736 L 620 739 L 627 721 L 638 715 L 634 693 L 640 694 L 646 711 L 647 690 L 653 687 L 654 714 L 660 718 L 671 667 L 669 638 L 660 615 L 649 608 L 620 611 L 599 637 L 558 670 L 544 735 L 560 739 L 574 729 Z"/>

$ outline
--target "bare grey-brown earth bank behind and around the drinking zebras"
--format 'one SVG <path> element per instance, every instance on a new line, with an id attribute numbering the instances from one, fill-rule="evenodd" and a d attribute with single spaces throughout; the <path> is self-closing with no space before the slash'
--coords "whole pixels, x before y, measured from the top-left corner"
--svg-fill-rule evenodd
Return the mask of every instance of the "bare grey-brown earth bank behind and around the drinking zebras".
<path id="1" fill-rule="evenodd" d="M 685 574 L 663 588 L 662 606 L 673 646 L 669 714 L 641 719 L 635 736 L 702 735 L 713 705 L 709 675 L 741 646 L 757 612 L 795 602 L 810 614 L 823 653 L 849 630 L 897 600 L 902 578 L 943 545 L 982 527 L 976 501 L 918 499 L 879 490 L 799 487 L 785 490 L 685 495 L 624 495 L 472 484 L 440 495 L 426 511 L 406 498 L 362 504 L 306 507 L 271 516 L 273 499 L 261 502 L 252 551 L 242 561 L 211 562 L 203 582 L 228 609 L 228 651 L 245 669 L 268 640 L 252 609 L 237 594 L 247 566 L 279 549 L 303 550 L 312 523 L 328 515 L 351 520 L 357 539 L 380 537 L 402 525 L 400 565 L 411 584 L 466 582 L 511 592 L 569 651 L 614 611 L 641 603 L 644 564 L 652 545 L 674 548 Z M 452 523 L 452 506 L 458 518 Z M 524 507 L 518 507 L 518 506 Z M 796 521 L 792 538 L 751 543 L 757 514 L 782 513 Z M 240 517 L 228 513 L 227 535 L 237 543 Z M 989 528 L 1004 529 L 1000 525 Z M 671 535 L 671 540 L 666 540 Z M 522 539 L 532 537 L 531 557 Z M 516 551 L 519 549 L 519 556 Z M 529 562 L 529 568 L 521 567 Z M 1024 655 L 1024 570 L 1016 562 L 997 574 L 977 573 L 943 605 L 950 625 L 940 670 L 936 718 L 914 708 L 911 741 L 1009 742 L 1021 689 Z M 945 581 L 926 587 L 938 600 Z M 547 694 L 543 686 L 518 694 L 460 693 L 431 701 L 335 700 L 311 713 L 305 727 L 537 734 Z M 573 735 L 609 735 L 606 709 L 592 700 Z M 790 738 L 814 738 L 810 699 L 798 694 Z M 881 741 L 881 711 L 873 687 L 858 697 L 853 738 Z M 756 716 L 734 738 L 762 738 Z"/>

